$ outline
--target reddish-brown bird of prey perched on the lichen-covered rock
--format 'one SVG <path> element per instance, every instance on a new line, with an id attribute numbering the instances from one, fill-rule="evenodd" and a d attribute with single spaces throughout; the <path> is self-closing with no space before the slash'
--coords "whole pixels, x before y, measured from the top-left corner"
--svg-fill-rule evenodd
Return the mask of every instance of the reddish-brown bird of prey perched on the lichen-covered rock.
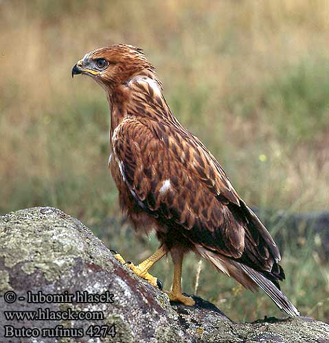
<path id="1" fill-rule="evenodd" d="M 128 264 L 158 285 L 150 267 L 170 252 L 170 300 L 194 305 L 181 290 L 183 255 L 194 251 L 247 289 L 260 287 L 290 316 L 299 312 L 280 291 L 280 252 L 258 217 L 240 198 L 207 147 L 172 114 L 155 68 L 133 45 L 111 45 L 85 54 L 76 74 L 100 84 L 111 112 L 109 168 L 122 211 L 136 230 L 155 229 L 159 250 Z M 115 257 L 125 263 L 119 254 Z"/>

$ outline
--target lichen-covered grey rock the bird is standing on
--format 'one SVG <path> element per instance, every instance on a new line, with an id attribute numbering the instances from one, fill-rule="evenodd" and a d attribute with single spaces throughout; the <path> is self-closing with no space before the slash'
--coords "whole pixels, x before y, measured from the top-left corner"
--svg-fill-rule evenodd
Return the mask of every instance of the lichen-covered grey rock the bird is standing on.
<path id="1" fill-rule="evenodd" d="M 311 318 L 236 323 L 201 298 L 195 307 L 170 305 L 86 226 L 51 207 L 0 216 L 0 295 L 1 343 L 329 342 L 329 325 Z M 27 312 L 17 320 L 8 311 Z"/>

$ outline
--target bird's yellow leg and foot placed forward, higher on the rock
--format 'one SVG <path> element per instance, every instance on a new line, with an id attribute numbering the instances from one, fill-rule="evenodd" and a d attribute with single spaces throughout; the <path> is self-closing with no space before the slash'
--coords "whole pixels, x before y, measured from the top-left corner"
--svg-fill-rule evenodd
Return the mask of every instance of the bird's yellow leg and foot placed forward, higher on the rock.
<path id="1" fill-rule="evenodd" d="M 153 255 L 148 257 L 145 261 L 139 263 L 139 265 L 134 265 L 131 262 L 124 261 L 123 257 L 120 254 L 114 254 L 115 259 L 120 261 L 122 264 L 127 265 L 128 268 L 131 268 L 133 272 L 137 276 L 141 276 L 143 279 L 146 279 L 151 285 L 157 286 L 160 289 L 162 288 L 161 281 L 157 279 L 155 276 L 152 276 L 148 273 L 148 270 L 155 264 L 155 262 L 159 261 L 164 255 L 166 255 L 166 250 L 163 246 L 161 246 Z"/>

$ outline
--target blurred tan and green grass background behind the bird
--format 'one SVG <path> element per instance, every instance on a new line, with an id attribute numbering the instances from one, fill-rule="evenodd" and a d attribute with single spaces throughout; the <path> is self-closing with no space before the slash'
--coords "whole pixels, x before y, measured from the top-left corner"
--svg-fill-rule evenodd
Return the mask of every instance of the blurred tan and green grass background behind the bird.
<path id="1" fill-rule="evenodd" d="M 120 220 L 102 89 L 70 75 L 113 43 L 144 48 L 173 112 L 248 204 L 328 210 L 328 1 L 2 0 L 0 32 L 0 213 L 56 206 L 135 262 L 157 247 Z M 329 321 L 329 264 L 313 241 L 286 246 L 282 287 L 302 314 Z M 185 292 L 234 320 L 280 316 L 205 262 L 195 289 L 198 266 L 185 259 Z M 153 268 L 167 289 L 171 270 L 170 259 Z"/>

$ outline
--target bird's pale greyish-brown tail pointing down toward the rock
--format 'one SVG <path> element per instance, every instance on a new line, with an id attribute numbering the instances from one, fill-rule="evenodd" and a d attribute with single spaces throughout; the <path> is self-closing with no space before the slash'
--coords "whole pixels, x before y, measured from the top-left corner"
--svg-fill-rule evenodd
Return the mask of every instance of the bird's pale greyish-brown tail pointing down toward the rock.
<path id="1" fill-rule="evenodd" d="M 218 255 L 216 252 L 212 252 L 203 246 L 196 246 L 196 250 L 202 257 L 207 259 L 207 261 L 212 262 L 220 272 L 227 274 L 227 276 L 234 277 L 242 286 L 251 291 L 257 289 L 257 287 L 262 288 L 273 300 L 275 305 L 286 312 L 286 314 L 292 317 L 299 316 L 299 311 L 286 295 L 270 280 L 266 279 L 264 275 L 260 274 L 260 272 L 225 256 Z"/>

